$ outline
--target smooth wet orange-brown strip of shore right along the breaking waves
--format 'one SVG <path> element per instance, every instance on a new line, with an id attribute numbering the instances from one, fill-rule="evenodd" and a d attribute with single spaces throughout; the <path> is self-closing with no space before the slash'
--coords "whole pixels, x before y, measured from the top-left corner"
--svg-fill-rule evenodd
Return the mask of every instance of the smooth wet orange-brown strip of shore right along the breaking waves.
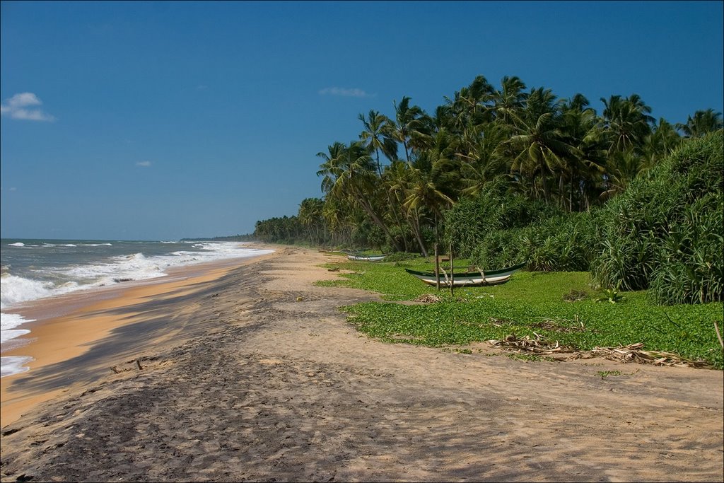
<path id="1" fill-rule="evenodd" d="M 22 390 L 20 386 L 33 384 L 36 379 L 34 371 L 83 356 L 91 345 L 110 337 L 114 329 L 138 322 L 143 312 L 137 313 L 130 308 L 142 305 L 147 300 L 161 303 L 168 298 L 193 293 L 200 290 L 199 286 L 219 280 L 240 266 L 273 255 L 267 253 L 173 267 L 165 277 L 79 290 L 77 293 L 32 301 L 14 308 L 11 313 L 33 319 L 20 326 L 20 329 L 29 329 L 30 333 L 8 340 L 1 356 L 31 359 L 22 364 L 28 370 L 0 379 L 0 427 L 17 421 L 23 412 L 32 410 L 68 389 Z M 23 384 L 15 385 L 18 379 L 23 379 Z"/>

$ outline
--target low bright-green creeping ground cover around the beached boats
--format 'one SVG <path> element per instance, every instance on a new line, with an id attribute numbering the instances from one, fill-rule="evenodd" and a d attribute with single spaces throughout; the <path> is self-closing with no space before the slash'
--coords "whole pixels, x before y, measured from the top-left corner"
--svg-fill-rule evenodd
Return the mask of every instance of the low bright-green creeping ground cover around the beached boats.
<path id="1" fill-rule="evenodd" d="M 460 265 L 466 262 L 460 260 Z M 647 301 L 643 290 L 619 293 L 616 303 L 599 302 L 606 294 L 591 289 L 588 272 L 518 272 L 504 285 L 458 288 L 451 296 L 450 290 L 438 293 L 404 270 L 429 269 L 429 259 L 327 265 L 332 266 L 353 273 L 317 285 L 371 290 L 389 301 L 342 308 L 358 330 L 379 340 L 466 345 L 511 334 L 533 336 L 535 332 L 581 350 L 644 343 L 647 350 L 703 359 L 717 369 L 724 366 L 713 324 L 723 318 L 720 302 L 657 306 Z M 442 301 L 427 305 L 393 303 L 426 293 L 439 295 Z"/>

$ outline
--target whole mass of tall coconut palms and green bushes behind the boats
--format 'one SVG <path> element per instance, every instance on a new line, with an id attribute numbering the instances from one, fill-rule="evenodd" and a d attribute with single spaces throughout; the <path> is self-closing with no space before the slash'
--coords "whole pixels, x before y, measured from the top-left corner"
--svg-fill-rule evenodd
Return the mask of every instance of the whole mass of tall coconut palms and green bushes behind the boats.
<path id="1" fill-rule="evenodd" d="M 721 113 L 672 125 L 636 94 L 601 101 L 599 114 L 581 94 L 518 77 L 496 88 L 481 75 L 434 114 L 403 97 L 390 117 L 360 114 L 358 139 L 317 154 L 323 198 L 257 222 L 254 235 L 423 256 L 438 243 L 484 269 L 593 267 L 603 287 L 650 286 L 661 303 L 721 300 L 721 189 L 694 182 L 720 180 L 721 167 L 679 159 L 711 159 L 717 142 L 721 158 L 721 134 L 699 142 L 720 132 Z"/>

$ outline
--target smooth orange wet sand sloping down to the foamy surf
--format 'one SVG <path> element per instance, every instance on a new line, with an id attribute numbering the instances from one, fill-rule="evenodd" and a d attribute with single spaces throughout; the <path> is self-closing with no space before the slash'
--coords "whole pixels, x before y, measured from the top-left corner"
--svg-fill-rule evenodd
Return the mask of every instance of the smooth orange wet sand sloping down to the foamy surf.
<path id="1" fill-rule="evenodd" d="M 231 269 L 264 257 L 177 267 L 171 269 L 167 277 L 84 290 L 17 309 L 26 319 L 34 320 L 22 326 L 30 329 L 30 334 L 9 340 L 3 345 L 1 355 L 28 356 L 33 360 L 24 364 L 31 372 L 0 379 L 0 427 L 16 421 L 22 412 L 58 397 L 59 392 L 67 392 L 73 385 L 93 381 L 98 374 L 109 370 L 104 364 L 114 360 L 111 354 L 117 358 L 124 353 L 132 356 L 137 352 L 143 344 L 137 340 L 143 337 L 142 334 L 129 332 L 127 337 L 115 337 L 111 331 L 125 327 L 128 332 L 130 327 L 140 327 L 133 324 L 151 315 L 146 308 L 148 301 L 152 301 L 158 311 L 169 301 L 179 301 L 183 295 L 190 295 L 203 284 L 218 280 Z M 135 307 L 139 307 L 138 313 Z M 174 335 L 185 337 L 180 333 L 182 328 L 167 324 L 164 335 L 154 337 L 153 344 L 159 345 Z M 104 357 L 100 357 L 98 350 L 91 350 L 91 347 L 104 341 Z M 68 361 L 80 362 L 72 377 L 59 377 L 46 369 L 64 363 L 68 366 Z M 17 384 L 16 380 L 19 380 Z"/>

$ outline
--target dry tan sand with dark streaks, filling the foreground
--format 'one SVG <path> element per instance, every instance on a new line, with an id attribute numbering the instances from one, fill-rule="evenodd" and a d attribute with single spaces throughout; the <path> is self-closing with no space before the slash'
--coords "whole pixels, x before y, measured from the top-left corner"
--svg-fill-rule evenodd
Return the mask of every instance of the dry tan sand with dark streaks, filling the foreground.
<path id="1" fill-rule="evenodd" d="M 720 371 L 380 343 L 337 311 L 376 295 L 312 285 L 335 259 L 282 248 L 86 310 L 105 332 L 3 379 L 24 413 L 0 479 L 723 481 Z"/>

